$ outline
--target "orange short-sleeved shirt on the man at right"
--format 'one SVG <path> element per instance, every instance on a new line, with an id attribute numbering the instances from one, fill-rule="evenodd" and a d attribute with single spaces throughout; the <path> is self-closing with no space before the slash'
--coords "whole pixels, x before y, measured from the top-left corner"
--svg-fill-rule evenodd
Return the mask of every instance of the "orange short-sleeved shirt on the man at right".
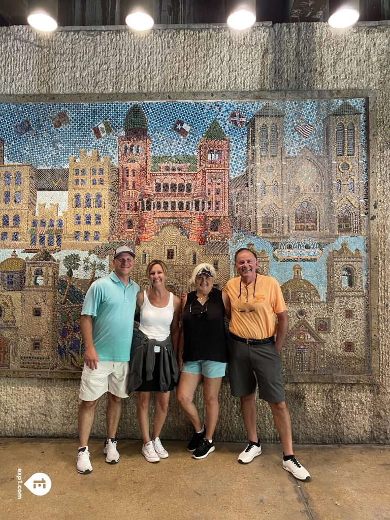
<path id="1" fill-rule="evenodd" d="M 240 276 L 232 278 L 225 287 L 231 305 L 230 332 L 247 340 L 264 340 L 273 336 L 276 333 L 275 314 L 287 309 L 278 280 L 271 276 L 256 275 L 256 286 L 254 281 L 246 286 L 248 303 L 244 282 L 241 282 L 239 301 L 240 281 Z M 240 312 L 239 309 L 254 310 Z"/>

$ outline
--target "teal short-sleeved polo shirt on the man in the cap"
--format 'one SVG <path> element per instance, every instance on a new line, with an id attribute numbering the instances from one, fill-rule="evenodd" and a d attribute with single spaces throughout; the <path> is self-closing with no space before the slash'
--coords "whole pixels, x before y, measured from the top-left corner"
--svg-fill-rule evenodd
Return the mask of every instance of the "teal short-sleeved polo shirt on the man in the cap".
<path id="1" fill-rule="evenodd" d="M 88 289 L 81 314 L 92 316 L 92 337 L 100 361 L 130 359 L 139 290 L 132 279 L 125 287 L 114 271 Z"/>

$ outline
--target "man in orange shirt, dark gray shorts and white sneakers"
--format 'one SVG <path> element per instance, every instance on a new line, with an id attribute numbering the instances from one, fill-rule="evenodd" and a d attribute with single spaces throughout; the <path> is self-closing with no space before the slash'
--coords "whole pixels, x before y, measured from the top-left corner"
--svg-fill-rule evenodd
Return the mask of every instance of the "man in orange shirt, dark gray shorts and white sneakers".
<path id="1" fill-rule="evenodd" d="M 248 464 L 261 454 L 256 432 L 256 380 L 261 399 L 268 402 L 283 446 L 283 468 L 299 480 L 310 480 L 309 473 L 294 457 L 290 413 L 285 404 L 280 352 L 289 318 L 275 278 L 258 275 L 257 259 L 246 248 L 235 255 L 238 277 L 229 280 L 229 383 L 231 394 L 241 398 L 241 413 L 248 446 L 238 462 Z M 276 323 L 278 317 L 278 324 Z"/>

